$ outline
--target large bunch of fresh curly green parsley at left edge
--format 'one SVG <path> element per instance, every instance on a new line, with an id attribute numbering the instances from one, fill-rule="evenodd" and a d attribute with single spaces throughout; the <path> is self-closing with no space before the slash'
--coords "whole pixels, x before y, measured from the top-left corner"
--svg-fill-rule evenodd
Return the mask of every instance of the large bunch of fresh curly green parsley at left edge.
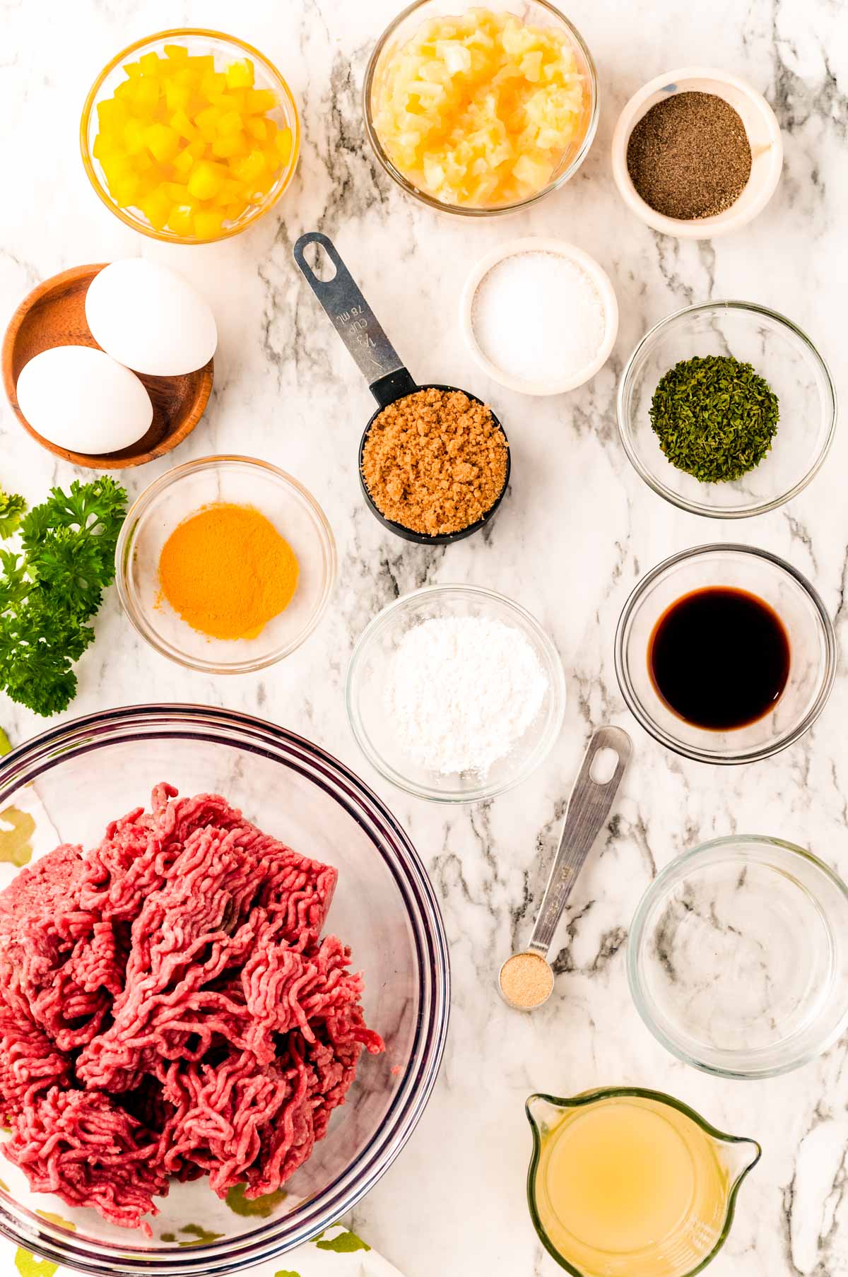
<path id="1" fill-rule="evenodd" d="M 0 684 L 45 716 L 77 693 L 74 661 L 93 642 L 86 622 L 115 576 L 126 493 L 109 476 L 54 488 L 20 518 L 23 553 L 0 550 Z"/>

